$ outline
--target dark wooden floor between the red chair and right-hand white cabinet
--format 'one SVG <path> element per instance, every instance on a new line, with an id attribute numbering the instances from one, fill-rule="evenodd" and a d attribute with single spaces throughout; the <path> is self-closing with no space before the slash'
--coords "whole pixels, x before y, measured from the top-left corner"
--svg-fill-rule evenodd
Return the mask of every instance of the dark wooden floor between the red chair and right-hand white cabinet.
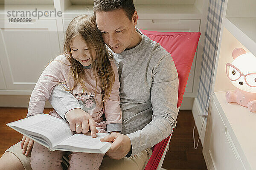
<path id="1" fill-rule="evenodd" d="M 195 150 L 193 146 L 193 127 L 195 121 L 191 111 L 180 111 L 177 117 L 177 125 L 173 130 L 162 167 L 167 170 L 207 170 L 202 144 L 199 142 Z M 195 130 L 195 139 L 198 140 L 198 133 Z"/>

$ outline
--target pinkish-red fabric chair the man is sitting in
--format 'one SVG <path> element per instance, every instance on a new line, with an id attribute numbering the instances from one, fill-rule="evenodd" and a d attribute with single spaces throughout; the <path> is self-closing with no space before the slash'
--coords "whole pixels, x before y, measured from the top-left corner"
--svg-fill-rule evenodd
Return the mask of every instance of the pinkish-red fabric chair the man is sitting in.
<path id="1" fill-rule="evenodd" d="M 172 56 L 174 60 L 178 77 L 179 77 L 179 92 L 177 108 L 179 111 L 183 94 L 186 88 L 186 83 L 189 77 L 189 71 L 193 62 L 195 51 L 198 45 L 200 32 L 157 32 L 141 30 L 143 34 L 151 40 L 160 43 Z M 176 122 L 175 122 L 176 125 Z M 153 153 L 145 167 L 145 170 L 160 170 L 163 164 L 166 151 L 169 146 L 171 136 L 160 143 L 154 145 Z"/>

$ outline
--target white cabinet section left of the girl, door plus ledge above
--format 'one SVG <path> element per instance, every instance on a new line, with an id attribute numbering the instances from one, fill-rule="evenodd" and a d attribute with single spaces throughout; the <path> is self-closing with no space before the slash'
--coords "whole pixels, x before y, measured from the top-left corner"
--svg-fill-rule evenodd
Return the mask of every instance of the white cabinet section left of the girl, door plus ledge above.
<path id="1" fill-rule="evenodd" d="M 54 11 L 53 0 L 0 2 L 0 95 L 29 96 L 47 63 L 61 54 Z"/>

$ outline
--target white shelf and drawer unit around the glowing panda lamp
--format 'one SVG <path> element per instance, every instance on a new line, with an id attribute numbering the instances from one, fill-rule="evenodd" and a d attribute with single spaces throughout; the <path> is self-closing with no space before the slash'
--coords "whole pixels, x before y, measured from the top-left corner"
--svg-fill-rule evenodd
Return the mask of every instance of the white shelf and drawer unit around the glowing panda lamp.
<path id="1" fill-rule="evenodd" d="M 225 0 L 212 92 L 235 90 L 225 65 L 234 48 L 256 56 L 255 0 Z M 208 170 L 256 169 L 256 113 L 237 103 L 227 103 L 225 92 L 214 94 L 204 137 L 203 154 Z"/>

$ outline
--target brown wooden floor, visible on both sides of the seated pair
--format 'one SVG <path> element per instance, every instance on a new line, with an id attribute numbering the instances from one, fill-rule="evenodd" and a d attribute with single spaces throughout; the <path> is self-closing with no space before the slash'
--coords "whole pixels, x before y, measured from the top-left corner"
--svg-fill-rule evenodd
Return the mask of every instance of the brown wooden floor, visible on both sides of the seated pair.
<path id="1" fill-rule="evenodd" d="M 48 113 L 51 110 L 45 109 L 44 112 Z M 0 108 L 0 156 L 7 148 L 22 139 L 22 135 L 6 126 L 6 123 L 25 118 L 26 113 L 27 108 Z M 166 170 L 207 170 L 201 142 L 197 150 L 193 147 L 194 123 L 191 111 L 179 112 L 177 126 L 169 144 L 170 150 L 166 153 L 162 166 Z M 195 132 L 198 139 L 198 133 L 196 130 Z"/>

